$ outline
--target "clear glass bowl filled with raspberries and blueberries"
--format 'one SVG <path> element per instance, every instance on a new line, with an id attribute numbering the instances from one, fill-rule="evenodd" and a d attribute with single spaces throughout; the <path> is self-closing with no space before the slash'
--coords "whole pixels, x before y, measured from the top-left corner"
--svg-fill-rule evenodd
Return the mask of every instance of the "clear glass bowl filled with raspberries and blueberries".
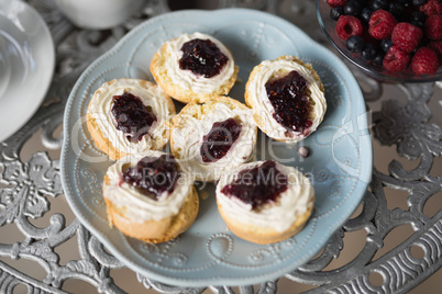
<path id="1" fill-rule="evenodd" d="M 331 44 L 386 82 L 442 80 L 442 0 L 317 0 Z"/>

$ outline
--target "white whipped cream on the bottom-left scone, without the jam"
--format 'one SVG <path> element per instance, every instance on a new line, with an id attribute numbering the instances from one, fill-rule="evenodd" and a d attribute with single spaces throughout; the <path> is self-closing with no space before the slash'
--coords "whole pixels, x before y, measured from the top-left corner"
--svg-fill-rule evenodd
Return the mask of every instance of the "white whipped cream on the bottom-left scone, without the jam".
<path id="1" fill-rule="evenodd" d="M 167 191 L 163 192 L 158 200 L 140 194 L 133 185 L 122 181 L 121 176 L 124 165 L 130 163 L 133 167 L 146 156 L 159 157 L 162 155 L 164 152 L 156 150 L 128 155 L 109 167 L 106 173 L 109 177 L 110 183 L 103 185 L 104 197 L 110 200 L 112 205 L 123 211 L 124 215 L 133 222 L 161 220 L 178 214 L 183 203 L 192 190 L 194 179 L 185 172 L 180 172 L 174 191 L 172 193 Z M 176 161 L 179 166 L 179 161 Z"/>

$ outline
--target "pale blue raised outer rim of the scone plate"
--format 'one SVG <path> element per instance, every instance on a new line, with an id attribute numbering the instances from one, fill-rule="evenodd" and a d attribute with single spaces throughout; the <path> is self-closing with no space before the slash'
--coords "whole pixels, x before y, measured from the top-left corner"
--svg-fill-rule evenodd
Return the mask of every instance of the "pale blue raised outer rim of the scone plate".
<path id="1" fill-rule="evenodd" d="M 93 224 L 89 223 L 89 220 L 87 219 L 87 217 L 84 215 L 84 213 L 77 207 L 77 203 L 75 203 L 74 199 L 69 195 L 67 195 L 67 192 L 71 192 L 70 185 L 67 182 L 67 179 L 65 179 L 65 170 L 66 170 L 66 155 L 68 152 L 68 145 L 70 142 L 69 138 L 69 132 L 70 129 L 67 129 L 67 127 L 69 126 L 69 117 L 70 117 L 70 112 L 69 109 L 71 106 L 71 104 L 74 103 L 74 93 L 78 90 L 79 83 L 80 81 L 82 81 L 87 75 L 89 74 L 90 70 L 92 70 L 96 66 L 98 66 L 99 64 L 101 64 L 103 61 L 103 59 L 109 58 L 110 56 L 112 56 L 113 54 L 115 54 L 118 50 L 120 50 L 120 48 L 123 46 L 123 43 L 130 38 L 132 35 L 136 34 L 137 31 L 143 30 L 144 26 L 148 26 L 154 24 L 155 22 L 159 22 L 161 20 L 165 19 L 165 18 L 170 18 L 170 16 L 175 16 L 178 18 L 177 14 L 195 14 L 195 13 L 203 13 L 203 14 L 210 14 L 210 13 L 223 13 L 223 11 L 237 11 L 241 13 L 251 13 L 251 14 L 256 14 L 256 15 L 261 15 L 263 18 L 266 18 L 266 20 L 275 20 L 276 22 L 279 23 L 285 23 L 286 25 L 289 25 L 290 27 L 292 27 L 294 30 L 298 31 L 299 33 L 303 34 L 306 36 L 307 39 L 309 39 L 310 42 L 312 42 L 314 44 L 314 46 L 328 52 L 328 54 L 330 54 L 330 56 L 333 56 L 332 58 L 334 58 L 334 60 L 336 63 L 339 63 L 339 65 L 341 66 L 341 68 L 346 71 L 345 74 L 347 76 L 352 77 L 352 82 L 354 84 L 357 86 L 357 97 L 360 97 L 361 101 L 360 101 L 360 108 L 361 111 L 363 111 L 363 113 L 366 112 L 365 109 L 365 104 L 364 104 L 364 99 L 363 99 L 363 94 L 361 91 L 361 88 L 357 84 L 357 81 L 354 79 L 353 74 L 350 71 L 350 69 L 345 66 L 345 64 L 339 59 L 338 56 L 333 55 L 333 53 L 331 53 L 331 50 L 329 50 L 328 48 L 325 48 L 323 45 L 319 44 L 318 42 L 316 42 L 314 39 L 312 39 L 310 36 L 308 36 L 302 30 L 300 30 L 299 27 L 297 27 L 295 24 L 288 22 L 287 20 L 270 14 L 268 12 L 263 12 L 263 11 L 257 11 L 257 10 L 252 10 L 252 9 L 244 9 L 244 8 L 226 8 L 226 9 L 218 9 L 218 10 L 185 10 L 185 11 L 173 11 L 173 12 L 167 12 L 157 16 L 154 16 L 152 19 L 148 19 L 144 22 L 142 22 L 141 24 L 139 24 L 136 27 L 134 27 L 133 30 L 131 30 L 126 35 L 124 35 L 112 48 L 110 48 L 108 52 L 106 52 L 103 55 L 101 55 L 100 57 L 98 57 L 91 65 L 89 65 L 89 67 L 87 69 L 85 69 L 85 71 L 81 74 L 81 76 L 77 79 L 77 82 L 75 84 L 75 87 L 73 88 L 66 108 L 65 108 L 65 115 L 64 115 L 64 140 L 63 140 L 63 146 L 62 146 L 62 155 L 60 155 L 60 174 L 62 174 L 62 185 L 63 189 L 65 191 L 66 194 L 66 199 L 67 202 L 69 204 L 69 206 L 71 207 L 73 212 L 75 213 L 75 215 L 79 218 L 80 223 L 87 227 L 95 236 L 98 237 L 98 239 L 103 242 L 103 245 L 107 246 L 107 248 L 109 249 L 109 251 L 115 256 L 115 258 L 118 258 L 118 260 L 120 260 L 123 264 L 130 267 L 132 270 L 134 270 L 137 273 L 141 274 L 147 274 L 147 279 L 153 279 L 154 281 L 157 282 L 162 282 L 162 283 L 168 283 L 172 285 L 177 285 L 177 286 L 208 286 L 208 285 L 248 285 L 248 284 L 254 284 L 254 283 L 261 283 L 263 282 L 262 279 L 265 280 L 269 280 L 269 279 L 277 279 L 286 273 L 289 273 L 290 271 L 295 270 L 295 269 L 286 269 L 284 268 L 284 270 L 279 270 L 277 272 L 273 272 L 273 273 L 263 273 L 263 274 L 258 274 L 252 278 L 237 278 L 237 279 L 228 279 L 228 280 L 220 280 L 221 278 L 219 276 L 212 276 L 212 279 L 210 281 L 208 281 L 207 279 L 192 279 L 189 280 L 188 278 L 176 278 L 176 276 L 164 276 L 163 274 L 158 274 L 155 271 L 150 271 L 148 269 L 145 269 L 143 267 L 140 267 L 137 263 L 134 263 L 132 260 L 128 260 L 123 253 L 121 253 L 118 248 L 115 248 L 114 246 L 112 246 L 110 244 L 110 240 L 107 238 L 106 233 L 104 231 L 99 231 L 98 229 L 96 229 L 93 227 Z M 361 122 L 364 124 L 364 126 L 366 126 L 368 128 L 367 125 L 367 118 L 361 117 Z M 368 131 L 367 131 L 368 132 Z M 369 134 L 368 134 L 369 135 Z M 369 136 L 366 138 L 366 144 L 368 144 L 367 150 L 365 150 L 365 162 L 368 163 L 369 166 L 369 170 L 367 170 L 366 172 L 369 173 L 368 177 L 372 176 L 373 172 L 373 150 L 372 150 L 372 140 L 369 138 Z M 367 179 L 365 181 L 365 185 L 361 186 L 357 185 L 362 192 L 361 192 L 361 197 L 357 201 L 357 203 L 355 203 L 354 205 L 351 206 L 352 213 L 357 208 L 358 204 L 361 203 L 361 201 L 363 200 L 363 196 L 365 194 L 365 191 L 367 190 L 369 183 L 369 179 Z M 339 229 L 342 224 L 344 222 L 346 222 L 346 219 L 349 219 L 349 217 L 351 216 L 352 213 L 349 213 L 347 216 L 342 217 L 340 219 L 334 219 L 336 222 L 334 222 L 333 224 L 333 229 L 330 233 L 330 235 L 325 238 L 322 237 L 321 240 L 319 241 L 319 244 L 321 244 L 320 246 L 317 246 L 317 248 L 312 248 L 310 250 L 313 251 L 312 255 L 308 256 L 308 257 L 303 257 L 301 260 L 301 263 L 303 264 L 305 262 L 307 262 L 308 260 L 310 260 L 312 258 L 312 256 L 314 256 L 314 253 L 317 253 L 319 250 L 321 250 L 321 248 L 323 248 L 323 246 L 327 244 L 327 241 L 330 239 L 330 237 L 333 235 L 333 233 Z M 257 282 L 259 280 L 259 282 Z"/>

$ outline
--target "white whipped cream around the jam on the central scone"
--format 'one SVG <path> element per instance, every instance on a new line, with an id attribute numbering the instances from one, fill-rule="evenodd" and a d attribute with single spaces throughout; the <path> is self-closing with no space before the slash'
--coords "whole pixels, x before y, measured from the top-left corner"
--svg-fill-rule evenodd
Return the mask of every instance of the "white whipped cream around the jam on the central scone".
<path id="1" fill-rule="evenodd" d="M 233 108 L 224 102 L 216 102 L 210 109 L 194 105 L 198 115 L 179 114 L 176 126 L 172 131 L 173 151 L 183 162 L 183 167 L 194 174 L 198 181 L 214 181 L 221 174 L 246 161 L 256 143 L 256 125 L 251 109 Z M 199 109 L 199 110 L 197 110 Z M 225 156 L 213 162 L 203 162 L 200 148 L 202 137 L 207 135 L 213 123 L 234 118 L 242 129 Z"/>

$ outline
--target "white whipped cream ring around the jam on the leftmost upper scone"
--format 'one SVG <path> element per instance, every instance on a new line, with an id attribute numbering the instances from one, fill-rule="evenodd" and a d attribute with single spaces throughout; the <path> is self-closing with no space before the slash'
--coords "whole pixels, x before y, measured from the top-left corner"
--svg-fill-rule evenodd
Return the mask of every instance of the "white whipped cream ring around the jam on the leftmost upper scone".
<path id="1" fill-rule="evenodd" d="M 159 87 L 148 82 L 148 87 L 145 88 L 141 82 L 142 80 L 136 79 L 118 79 L 104 83 L 93 93 L 88 108 L 89 115 L 95 118 L 102 135 L 117 149 L 125 154 L 162 148 L 168 140 L 166 133 L 169 126 L 166 122 L 175 115 L 174 104 Z M 117 122 L 111 114 L 112 98 L 122 95 L 124 92 L 140 98 L 144 105 L 152 109 L 157 118 L 148 129 L 148 134 L 140 142 L 130 142 L 124 132 L 117 129 Z"/>

